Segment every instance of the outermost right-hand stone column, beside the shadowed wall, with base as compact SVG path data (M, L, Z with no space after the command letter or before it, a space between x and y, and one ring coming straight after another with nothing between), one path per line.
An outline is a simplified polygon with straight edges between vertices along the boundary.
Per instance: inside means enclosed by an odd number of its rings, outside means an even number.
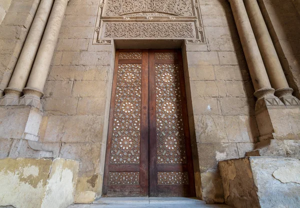
M258 44L264 66L269 77L271 86L275 89L275 96L287 104L287 100L297 98L291 93L293 89L288 86L283 73L279 58L277 56L272 39L264 22L257 0L244 0L244 5ZM296 102L295 102L296 103Z

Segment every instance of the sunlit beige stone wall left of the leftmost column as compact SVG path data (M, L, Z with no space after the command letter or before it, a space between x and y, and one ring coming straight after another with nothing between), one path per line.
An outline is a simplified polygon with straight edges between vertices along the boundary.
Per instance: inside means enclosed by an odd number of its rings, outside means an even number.
M11 4L1 0L0 6L2 3L8 10L0 23L0 96L8 85L39 0L12 0Z

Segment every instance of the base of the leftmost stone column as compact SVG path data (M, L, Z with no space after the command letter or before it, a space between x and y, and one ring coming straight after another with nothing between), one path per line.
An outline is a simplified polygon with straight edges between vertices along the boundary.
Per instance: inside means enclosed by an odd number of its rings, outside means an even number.
M5 95L0 98L0 106L15 106L18 105L18 99L22 94L22 90L7 87L4 89Z

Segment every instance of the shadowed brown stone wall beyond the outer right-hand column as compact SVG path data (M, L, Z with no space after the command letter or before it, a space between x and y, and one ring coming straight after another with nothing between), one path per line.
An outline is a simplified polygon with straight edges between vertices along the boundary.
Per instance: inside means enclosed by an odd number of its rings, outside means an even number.
M293 95L300 99L300 14L292 0L258 0Z

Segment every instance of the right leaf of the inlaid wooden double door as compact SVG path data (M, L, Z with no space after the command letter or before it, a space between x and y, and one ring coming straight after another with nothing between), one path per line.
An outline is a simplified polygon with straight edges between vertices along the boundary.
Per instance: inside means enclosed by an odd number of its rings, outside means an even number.
M180 50L149 51L149 196L194 197Z

